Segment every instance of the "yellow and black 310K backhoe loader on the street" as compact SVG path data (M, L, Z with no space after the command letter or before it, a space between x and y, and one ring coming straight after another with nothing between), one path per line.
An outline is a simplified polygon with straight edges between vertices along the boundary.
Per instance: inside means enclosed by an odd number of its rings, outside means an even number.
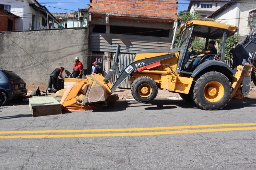
M225 41L237 32L237 27L210 21L189 21L180 28L180 32L178 48L139 51L133 63L122 72L118 68L120 45L117 45L117 57L107 76L87 75L85 82L77 85L80 90L76 89L73 94L76 100L73 101L87 110L97 104L107 104L109 96L127 77L132 82L132 96L141 103L149 103L156 97L158 89L166 89L179 93L184 100L194 102L201 109L219 110L231 99L243 99L249 93L250 83L244 84L243 80L251 80L253 65L250 61L253 58L249 57L254 57L255 50L249 55L245 44L250 43L254 34L248 35L240 46L233 49L232 68L224 63ZM191 46L195 37L205 40L205 50L209 40L222 39L222 48L221 54L204 55L191 70L193 57L197 55ZM113 73L117 80L112 85L109 78ZM79 91L81 94L77 95Z

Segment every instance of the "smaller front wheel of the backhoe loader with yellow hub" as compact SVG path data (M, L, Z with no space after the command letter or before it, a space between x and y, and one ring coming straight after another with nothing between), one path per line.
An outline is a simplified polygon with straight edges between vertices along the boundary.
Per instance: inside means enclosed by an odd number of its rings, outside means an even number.
M136 78L131 86L133 98L140 103L149 103L154 100L157 92L156 82L148 76Z

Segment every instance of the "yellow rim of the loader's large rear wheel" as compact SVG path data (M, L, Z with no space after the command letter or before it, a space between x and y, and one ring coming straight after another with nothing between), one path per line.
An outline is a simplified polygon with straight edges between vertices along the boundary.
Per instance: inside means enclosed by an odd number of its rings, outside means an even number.
M224 87L217 81L211 81L204 86L204 97L209 102L218 102L224 96Z

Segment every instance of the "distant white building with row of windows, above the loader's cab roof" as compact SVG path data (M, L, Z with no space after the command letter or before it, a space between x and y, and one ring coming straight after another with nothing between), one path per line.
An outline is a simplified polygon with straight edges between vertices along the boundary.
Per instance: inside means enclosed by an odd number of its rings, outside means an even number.
M201 14L202 17L207 17L225 5L228 1L229 0L191 0L188 5L188 11L190 14L196 11Z

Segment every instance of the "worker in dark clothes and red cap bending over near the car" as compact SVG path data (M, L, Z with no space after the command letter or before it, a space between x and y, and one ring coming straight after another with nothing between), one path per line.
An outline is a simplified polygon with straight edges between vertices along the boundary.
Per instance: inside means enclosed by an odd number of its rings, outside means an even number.
M53 86L53 92L54 93L57 92L58 76L60 76L60 78L64 79L62 77L63 70L65 70L64 67L55 68L55 70L53 70L53 72L50 74L49 84L48 84L48 93L52 92L52 86Z

